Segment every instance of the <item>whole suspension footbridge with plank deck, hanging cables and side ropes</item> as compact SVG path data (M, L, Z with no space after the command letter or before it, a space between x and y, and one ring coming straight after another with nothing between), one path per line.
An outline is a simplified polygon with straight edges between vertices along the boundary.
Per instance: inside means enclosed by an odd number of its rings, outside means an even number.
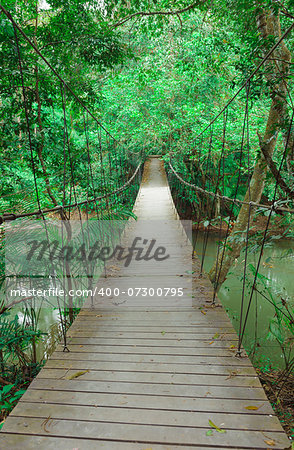
M91 101L80 98L40 51L37 39L29 37L2 5L0 9L8 30L7 54L12 58L7 70L14 74L12 85L9 78L6 88L16 99L15 104L4 105L11 114L10 122L16 125L11 132L13 143L5 141L3 146L8 146L7 153L10 148L17 149L28 183L23 191L13 192L12 188L6 199L8 206L0 215L1 233L12 229L11 223L21 229L26 220L32 223L35 218L35 226L44 228L48 242L50 227L54 234L60 223L65 224L64 243L72 237L74 220L83 238L94 222L125 221L116 257L105 264L94 293L86 296L75 320L72 296L58 303L63 340L5 419L0 447L289 449L290 441L242 342L257 293L270 304L272 315L281 318L278 325L284 320L288 327L286 344L293 329L290 302L284 294L274 298L264 288L260 268L272 217L292 218L294 213L293 161L289 160L294 148L294 114L284 105L285 120L280 123L277 118L281 102L286 99L287 103L291 95L281 61L271 63L294 24L279 36L220 113L205 122L198 134L191 131L193 137L185 150L179 151L176 140L171 145L173 129L168 132L169 137L161 142L161 159L148 156L150 152L144 149L124 146L127 138L115 138L97 119ZM249 120L250 105L256 101L254 79L261 71L266 77L271 64L274 96L263 137L256 137L255 122L251 126ZM47 95L49 84L54 86L51 96ZM233 105L236 99L238 111L244 109L240 117ZM47 124L46 117L52 124ZM202 118L196 119L193 127L202 123ZM4 122L1 125L6 126ZM236 148L231 148L231 134L240 136ZM272 192L263 201L268 174L273 178ZM202 225L205 228L201 261L189 239L189 224L178 215L177 207L183 201L197 224L196 234ZM133 204L132 218L127 221ZM264 216L263 227L252 243L253 219L258 214ZM203 268L208 236L215 225L219 243L211 284ZM105 225L98 225L97 233L101 233L100 226ZM110 225L109 229L111 241ZM21 250L23 241L16 242L21 242ZM149 247L146 250L141 244ZM258 249L254 266L248 260L250 246ZM130 260L120 257L126 248L132 250ZM236 333L217 291L242 252L240 328ZM60 278L68 281L65 285L72 287L66 258L59 261L57 270L52 261L47 269L48 279L55 279L59 270ZM82 269L91 278L88 262ZM34 300L18 298L5 304L1 299L1 315L14 311L16 305L33 310ZM1 331L6 329L5 320ZM26 324L21 333L27 339L25 351L33 353L37 366L40 334ZM1 373L6 377L6 367L16 368L11 350L16 347L9 340L3 342L1 355L6 359ZM19 342L24 356L25 344ZM285 363L288 370L293 368L290 351ZM31 369L29 363L25 369L28 367ZM24 373L23 382L28 379L31 381ZM11 378L3 380L4 385L11 383Z

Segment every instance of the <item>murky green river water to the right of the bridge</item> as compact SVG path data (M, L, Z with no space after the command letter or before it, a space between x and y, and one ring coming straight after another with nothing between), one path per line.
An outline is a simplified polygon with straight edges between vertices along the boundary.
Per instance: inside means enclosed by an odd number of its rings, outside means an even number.
M203 254L203 240L204 234L199 233L196 242L196 252L198 257L201 258ZM206 256L204 259L204 270L209 271L211 268L217 252L219 238L216 235L210 235L208 238ZM290 337L290 333L286 331L285 324L282 325L281 336L276 331L276 327L270 325L272 319L275 316L275 307L271 303L277 303L277 306L282 307L282 299L287 301L289 310L292 312L294 308L294 252L292 252L293 243L288 240L280 240L273 242L270 247L264 249L260 271L261 277L258 281L258 288L263 295L260 295L254 291L249 309L247 325L244 333L244 347L250 354L251 358L254 358L256 362L262 362L263 365L272 367L284 367L284 355L281 350L281 346L278 344L277 339L273 336L270 329L278 336L281 342L286 343L287 338ZM240 309L242 298L242 285L243 285L243 272L244 272L244 253L241 254L238 261L235 262L231 269L231 273L227 280L221 287L218 297L226 308L229 317L236 329L239 331L240 323ZM247 262L247 277L248 285L245 290L244 298L244 311L246 312L253 273L250 270L250 265L256 267L259 257L259 252L249 253ZM265 277L265 278L263 278ZM251 281L251 283L250 283ZM245 317L245 312L243 317ZM285 318L283 314L282 317ZM292 336L293 344L293 336ZM291 342L286 343L286 357L291 356ZM293 349L294 350L294 349ZM292 352L293 356L294 351Z

